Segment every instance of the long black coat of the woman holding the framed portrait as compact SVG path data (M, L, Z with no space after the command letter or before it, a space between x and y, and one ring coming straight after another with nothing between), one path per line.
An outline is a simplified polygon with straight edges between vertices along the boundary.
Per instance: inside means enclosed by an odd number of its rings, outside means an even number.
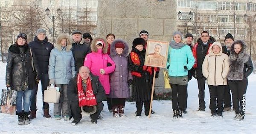
M133 46L131 52L135 52L138 54L140 58L140 65L133 64L130 53L128 56L128 68L129 70L138 72L142 75L142 77L137 77L133 75L134 83L132 84L132 99L134 101L148 101L151 99L154 74L150 75L147 71L143 71L143 65L145 61L145 49L139 51ZM154 72L153 67L152 72Z

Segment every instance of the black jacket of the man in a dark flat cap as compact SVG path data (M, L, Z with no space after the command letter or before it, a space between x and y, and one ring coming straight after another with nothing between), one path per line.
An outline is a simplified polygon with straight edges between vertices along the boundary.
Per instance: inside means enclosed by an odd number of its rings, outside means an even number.
M76 71L79 70L79 67L84 65L85 56L91 52L90 43L85 43L84 39L81 42L72 43L72 52L75 59Z

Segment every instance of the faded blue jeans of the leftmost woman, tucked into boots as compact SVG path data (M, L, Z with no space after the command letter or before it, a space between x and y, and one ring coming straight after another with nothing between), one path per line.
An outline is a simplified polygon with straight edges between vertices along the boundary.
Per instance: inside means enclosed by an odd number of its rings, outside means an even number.
M21 113L22 110L24 110L24 112L29 112L31 93L32 93L32 90L17 92L17 98L16 98L17 113ZM22 99L23 99L23 106L22 106Z

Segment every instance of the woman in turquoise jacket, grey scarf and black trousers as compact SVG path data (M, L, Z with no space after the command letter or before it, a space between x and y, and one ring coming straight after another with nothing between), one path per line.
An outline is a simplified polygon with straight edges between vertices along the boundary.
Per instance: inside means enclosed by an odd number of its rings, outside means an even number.
M182 41L179 31L173 33L170 42L167 70L169 83L172 87L172 109L174 118L182 118L182 111L186 109L186 95L188 88L188 70L194 65L195 59L191 49Z

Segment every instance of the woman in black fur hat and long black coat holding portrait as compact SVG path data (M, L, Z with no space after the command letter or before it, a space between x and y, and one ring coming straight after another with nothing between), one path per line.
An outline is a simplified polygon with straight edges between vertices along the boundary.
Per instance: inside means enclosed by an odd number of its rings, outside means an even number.
M144 66L145 62L145 40L136 38L132 42L131 53L128 56L128 68L133 76L132 99L136 101L136 116L140 117L144 103L145 115L149 115L151 90L153 84L154 70L157 67ZM154 93L155 95L155 93Z

